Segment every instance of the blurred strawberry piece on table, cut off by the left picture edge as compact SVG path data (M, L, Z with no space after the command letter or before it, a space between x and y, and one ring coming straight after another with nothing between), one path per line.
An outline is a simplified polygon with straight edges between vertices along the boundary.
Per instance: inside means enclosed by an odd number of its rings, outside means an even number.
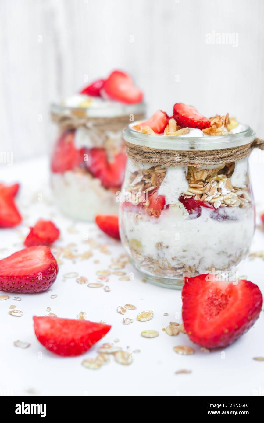
M0 228L13 228L22 221L14 200L18 190L19 184L0 183Z

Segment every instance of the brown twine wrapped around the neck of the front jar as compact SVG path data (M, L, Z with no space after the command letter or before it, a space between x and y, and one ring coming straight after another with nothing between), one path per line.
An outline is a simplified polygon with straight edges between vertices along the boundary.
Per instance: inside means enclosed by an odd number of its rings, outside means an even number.
M125 144L127 156L134 162L149 163L153 166L164 165L166 167L193 166L199 168L203 165L222 165L249 156L253 148L264 150L264 140L260 138L255 138L251 143L243 146L219 150L165 150L135 145L127 140Z

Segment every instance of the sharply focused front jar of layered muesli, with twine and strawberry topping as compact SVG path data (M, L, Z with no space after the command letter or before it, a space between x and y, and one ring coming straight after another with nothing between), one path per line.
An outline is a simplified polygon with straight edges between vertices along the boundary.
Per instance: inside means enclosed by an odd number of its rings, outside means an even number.
M120 236L134 266L161 286L234 272L254 229L248 155L260 140L235 118L176 103L124 131L128 162Z

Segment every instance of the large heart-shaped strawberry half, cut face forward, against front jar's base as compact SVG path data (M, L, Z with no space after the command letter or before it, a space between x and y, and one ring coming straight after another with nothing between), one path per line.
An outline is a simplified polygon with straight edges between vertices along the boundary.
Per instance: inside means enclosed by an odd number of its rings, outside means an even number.
M224 347L253 326L263 298L258 286L248 280L212 282L210 276L185 278L183 325L193 342L207 348Z

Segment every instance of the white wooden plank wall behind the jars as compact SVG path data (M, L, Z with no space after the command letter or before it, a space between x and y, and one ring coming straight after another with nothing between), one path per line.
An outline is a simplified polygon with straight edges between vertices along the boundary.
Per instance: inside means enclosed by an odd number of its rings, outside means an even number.
M263 0L1 0L0 151L48 151L50 101L114 68L144 88L149 113L228 111L263 137L263 22ZM206 44L213 31L238 46Z

